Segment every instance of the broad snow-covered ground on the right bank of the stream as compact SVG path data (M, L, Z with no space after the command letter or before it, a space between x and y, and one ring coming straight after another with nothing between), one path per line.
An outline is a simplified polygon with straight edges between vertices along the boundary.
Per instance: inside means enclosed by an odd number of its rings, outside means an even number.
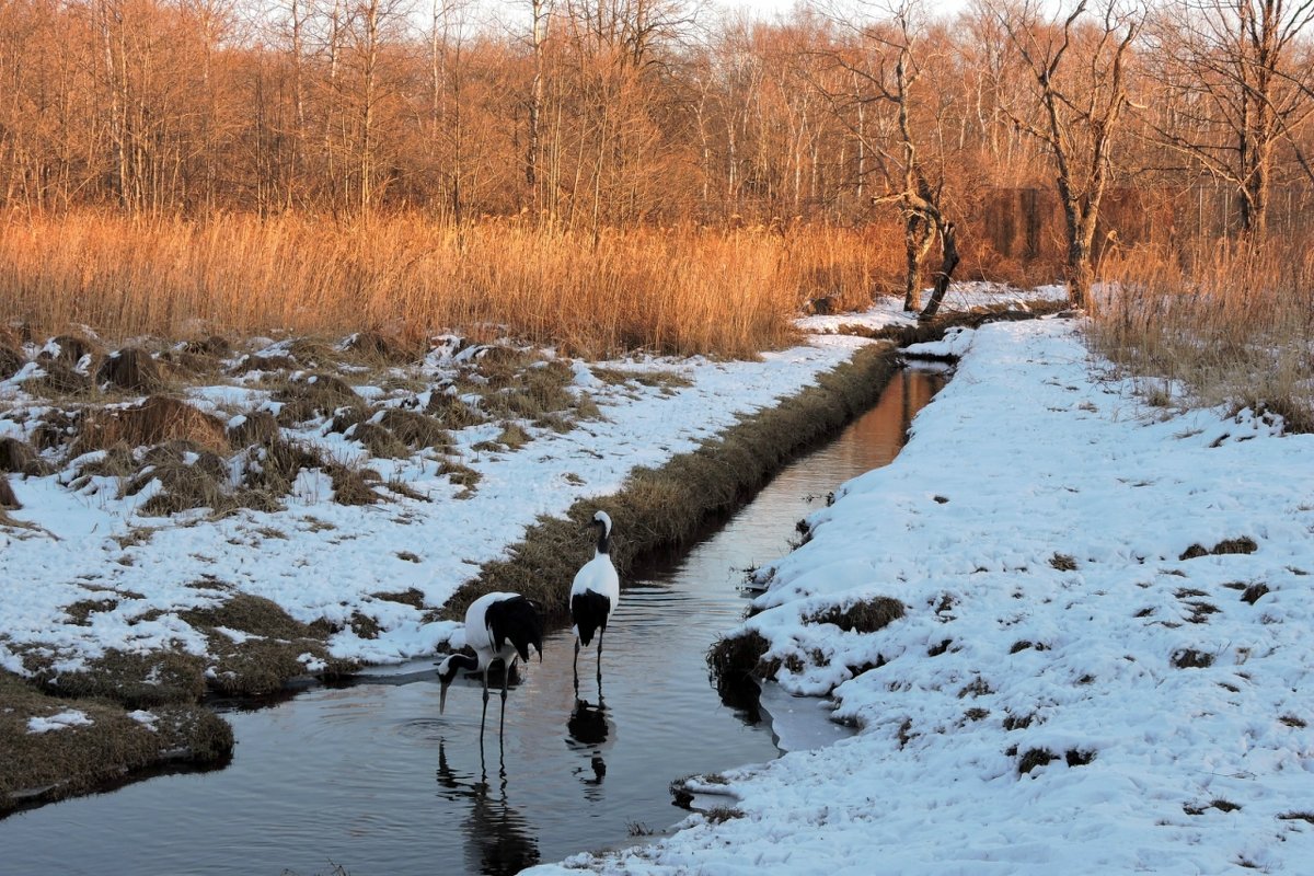
M530 872L1314 872L1314 436L1151 407L1080 331L963 332L899 458L761 570L745 626L855 735ZM905 616L800 620L875 596Z

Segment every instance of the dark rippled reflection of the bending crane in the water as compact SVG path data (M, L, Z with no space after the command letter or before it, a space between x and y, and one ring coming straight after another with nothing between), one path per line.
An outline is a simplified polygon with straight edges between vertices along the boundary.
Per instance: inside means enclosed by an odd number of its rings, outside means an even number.
M464 818L465 864L469 872L501 876L518 873L539 863L539 841L519 809L507 802L506 759L498 743L497 788L487 779L484 746L480 745L480 775L463 775L447 760L445 741L438 741L438 784L447 800L468 802Z

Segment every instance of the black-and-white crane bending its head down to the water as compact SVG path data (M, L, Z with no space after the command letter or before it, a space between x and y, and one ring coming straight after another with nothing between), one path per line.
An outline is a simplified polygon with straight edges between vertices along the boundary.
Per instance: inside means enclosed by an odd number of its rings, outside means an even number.
M438 712L447 707L447 688L461 670L484 672L484 714L480 718L480 737L489 713L489 668L502 662L502 720L506 720L506 686L516 658L530 662L530 646L543 662L543 617L528 599L519 594L487 594L480 596L465 611L465 644L474 649L469 654L449 654L438 665L438 680L443 690Z

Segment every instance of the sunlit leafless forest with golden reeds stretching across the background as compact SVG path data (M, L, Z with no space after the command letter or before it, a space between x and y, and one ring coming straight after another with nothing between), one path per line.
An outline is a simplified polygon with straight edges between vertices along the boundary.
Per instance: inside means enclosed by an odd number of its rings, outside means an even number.
M1314 3L933 7L0 0L5 315L332 330L552 288L514 328L744 352L816 298L920 309L949 250L1077 303L1305 282ZM761 313L695 339L698 297Z

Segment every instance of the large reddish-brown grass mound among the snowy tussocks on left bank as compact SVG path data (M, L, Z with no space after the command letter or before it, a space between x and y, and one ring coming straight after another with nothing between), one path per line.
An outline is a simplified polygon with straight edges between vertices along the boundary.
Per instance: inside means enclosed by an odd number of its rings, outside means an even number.
M167 395L151 395L133 407L84 414L74 449L85 453L114 444L142 447L179 440L215 453L230 450L222 420Z

